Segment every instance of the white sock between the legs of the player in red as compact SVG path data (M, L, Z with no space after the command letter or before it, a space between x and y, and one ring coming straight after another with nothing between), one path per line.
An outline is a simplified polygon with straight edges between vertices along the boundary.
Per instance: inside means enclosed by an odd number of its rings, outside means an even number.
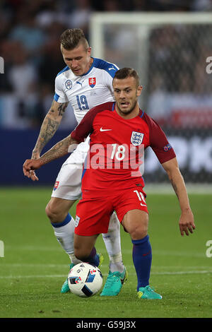
M119 220L116 213L112 213L107 234L102 234L105 247L110 258L110 271L123 272L124 264L122 262L121 239L119 232Z

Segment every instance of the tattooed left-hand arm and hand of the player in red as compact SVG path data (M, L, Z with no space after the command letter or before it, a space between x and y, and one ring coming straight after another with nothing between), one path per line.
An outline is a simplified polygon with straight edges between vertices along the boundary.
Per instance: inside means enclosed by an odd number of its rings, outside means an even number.
M23 173L26 177L31 177L30 172L32 170L37 170L42 165L51 162L57 158L63 157L69 152L69 146L76 146L78 141L71 138L71 135L64 138L62 141L59 141L55 146L48 150L42 157L38 159L27 159L23 164Z

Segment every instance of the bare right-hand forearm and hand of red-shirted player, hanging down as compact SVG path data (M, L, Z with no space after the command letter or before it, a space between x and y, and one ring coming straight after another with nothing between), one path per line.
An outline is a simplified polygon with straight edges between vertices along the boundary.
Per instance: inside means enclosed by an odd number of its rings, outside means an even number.
M184 184L184 179L179 171L177 159L173 158L162 164L164 170L170 179L175 194L177 195L179 206L181 209L181 216L179 218L179 230L182 236L184 232L186 235L193 233L195 229L194 216L189 205L189 198L187 195L187 189Z

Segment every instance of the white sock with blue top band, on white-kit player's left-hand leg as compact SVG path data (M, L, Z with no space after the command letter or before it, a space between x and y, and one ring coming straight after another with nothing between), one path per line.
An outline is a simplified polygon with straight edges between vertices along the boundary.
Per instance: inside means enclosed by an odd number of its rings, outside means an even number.
M74 265L81 263L79 259L74 256L73 249L73 236L74 236L74 219L70 214L67 215L66 219L61 223L52 223L52 227L54 229L54 235L57 238L61 247L66 251L71 259L71 263Z

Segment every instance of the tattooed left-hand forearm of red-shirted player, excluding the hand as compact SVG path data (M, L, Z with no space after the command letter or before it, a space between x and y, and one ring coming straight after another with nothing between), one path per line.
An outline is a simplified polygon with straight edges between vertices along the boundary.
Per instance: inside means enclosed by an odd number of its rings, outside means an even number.
M59 141L55 146L53 146L50 150L48 150L42 157L40 158L41 165L45 165L52 160L63 157L69 152L69 146L72 144L78 143L76 140L71 138L71 135L64 138L62 141Z

